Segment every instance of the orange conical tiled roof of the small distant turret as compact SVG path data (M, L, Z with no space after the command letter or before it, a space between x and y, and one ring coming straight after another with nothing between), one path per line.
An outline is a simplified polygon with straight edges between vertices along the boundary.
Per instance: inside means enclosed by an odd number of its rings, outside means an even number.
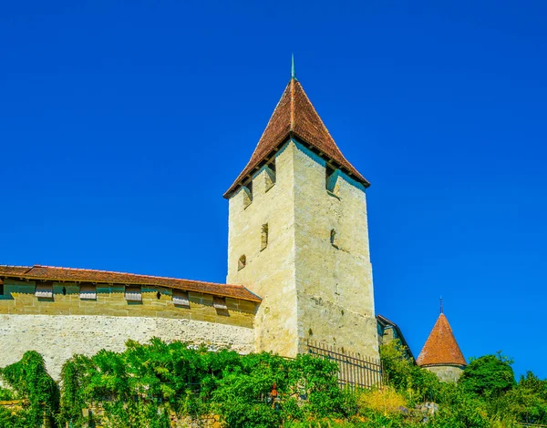
M463 354L459 350L458 342L452 333L449 321L444 313L439 315L428 340L419 353L416 363L420 366L431 364L458 364L466 365Z

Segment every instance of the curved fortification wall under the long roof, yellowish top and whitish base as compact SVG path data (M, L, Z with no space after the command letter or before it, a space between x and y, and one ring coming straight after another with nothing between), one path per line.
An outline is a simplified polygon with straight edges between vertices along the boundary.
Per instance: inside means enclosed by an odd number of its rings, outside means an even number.
M143 287L141 302L126 301L125 288L114 285L98 286L95 301L81 300L79 287L69 283L54 283L51 300L36 298L32 281L5 280L4 289L0 367L35 350L58 378L63 362L74 353L120 352L129 339L146 342L152 337L254 351L255 304L249 301L228 298L228 309L218 310L212 296L192 292L190 306L177 307L171 290L160 288Z

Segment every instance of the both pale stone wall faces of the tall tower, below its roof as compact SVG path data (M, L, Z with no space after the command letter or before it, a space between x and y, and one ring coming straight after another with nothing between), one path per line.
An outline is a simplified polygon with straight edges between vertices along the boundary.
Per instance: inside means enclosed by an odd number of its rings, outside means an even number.
M244 190L230 199L227 282L263 298L257 351L294 356L312 339L378 358L365 189L338 173L328 192L325 160L294 140L276 154L275 170L271 189L264 170L253 176L247 207ZM265 223L269 242L261 250Z

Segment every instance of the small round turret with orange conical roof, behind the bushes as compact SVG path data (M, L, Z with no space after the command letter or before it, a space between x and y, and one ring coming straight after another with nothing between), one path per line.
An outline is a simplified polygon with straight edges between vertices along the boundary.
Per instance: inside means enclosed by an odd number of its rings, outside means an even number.
M437 374L443 382L457 382L467 365L444 313L440 313L416 363Z

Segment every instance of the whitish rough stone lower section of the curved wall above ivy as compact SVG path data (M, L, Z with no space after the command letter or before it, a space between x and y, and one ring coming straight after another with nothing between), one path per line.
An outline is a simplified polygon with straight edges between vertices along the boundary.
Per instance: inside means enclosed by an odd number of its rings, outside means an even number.
M26 351L40 352L47 371L58 379L63 362L75 353L101 349L121 352L129 339L207 344L212 349L254 351L253 329L206 321L101 315L0 315L0 367L17 362Z

